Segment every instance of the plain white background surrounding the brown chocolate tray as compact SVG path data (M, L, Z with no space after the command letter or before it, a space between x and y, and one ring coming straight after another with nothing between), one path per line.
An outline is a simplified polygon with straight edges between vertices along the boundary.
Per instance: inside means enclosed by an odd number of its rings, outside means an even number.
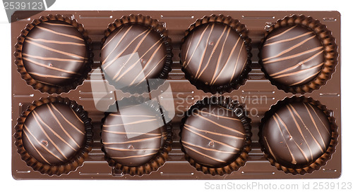
M49 10L232 10L232 11L340 11L342 15L341 68L342 68L342 176L340 179L296 180L233 180L234 184L259 181L261 184L299 184L303 182L353 181L352 155L352 4L345 1L69 1L56 0ZM349 9L350 7L350 9ZM211 191L205 189L206 181L16 181L11 176L11 25L8 24L4 6L0 6L0 187L6 191ZM228 181L211 181L227 184ZM221 191L221 190L218 190ZM239 191L232 189L228 191ZM241 190L248 191L248 190ZM256 190L249 190L256 191ZM281 191L281 190L277 190ZM300 190L295 190L300 191ZM311 190L312 191L312 190ZM320 190L325 191L325 190ZM330 190L332 191L332 190ZM337 190L333 190L337 191ZM341 190L340 190L341 191ZM349 191L349 190L342 190Z

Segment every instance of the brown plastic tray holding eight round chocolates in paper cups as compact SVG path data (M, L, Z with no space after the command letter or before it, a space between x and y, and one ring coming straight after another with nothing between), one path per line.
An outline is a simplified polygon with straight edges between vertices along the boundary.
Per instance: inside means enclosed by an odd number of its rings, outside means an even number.
M14 13L13 19L20 18L23 12ZM179 52L181 39L184 37L184 32L189 28L189 25L194 23L196 19L203 18L205 15L230 15L234 19L238 19L246 25L249 30L249 37L252 40L252 71L244 86L240 89L232 91L232 93L224 94L237 98L241 103L246 105L248 109L258 110L257 115L251 115L251 126L253 136L252 150L249 153L249 160L244 167L241 167L237 172L225 174L223 176L212 176L203 174L192 167L189 162L184 159L184 153L181 151L179 143L179 130L182 114L176 114L172 120L173 124L173 144L172 151L169 153L169 159L156 172L145 174L143 176L131 176L129 174L119 174L112 171L108 163L104 160L104 153L101 151L100 144L100 121L104 117L104 113L95 108L92 98L92 81L95 74L90 72L88 79L85 79L82 85L68 93L60 94L62 97L68 97L78 104L83 105L83 108L88 111L89 117L92 119L94 126L94 143L92 151L85 160L82 167L78 167L75 172L63 174L61 176L49 177L47 174L35 172L31 167L28 167L20 155L16 151L14 144L15 139L12 138L12 175L14 179L309 179L309 178L338 178L341 174L341 97L340 97L340 13L337 11L43 11L32 15L28 19L21 19L11 23L11 45L12 53L15 52L15 44L20 31L25 28L25 25L32 22L35 18L40 18L42 15L61 14L72 19L76 19L78 23L84 25L88 31L89 37L92 39L94 64L92 68L100 67L100 41L104 37L104 30L107 29L109 23L114 22L116 18L121 18L123 15L142 14L150 15L162 23L169 30L169 37L172 39L173 45L173 65L172 72L169 72L168 82L172 88L172 96L174 97L174 106L178 109L187 110L190 105L197 100L201 100L205 96L203 91L196 89L188 80L184 78L184 73L179 65ZM270 165L270 162L265 159L263 152L258 143L258 124L264 113L270 109L270 106L284 99L291 97L293 94L285 93L278 90L270 84L270 81L265 78L261 67L258 65L258 44L263 38L265 30L275 23L278 19L285 18L287 15L306 15L316 18L321 23L328 27L333 33L338 46L339 56L338 64L333 73L333 77L328 80L321 89L315 90L310 94L304 94L306 97L312 97L326 105L328 109L333 110L333 115L336 119L338 127L338 144L336 152L332 159L321 167L318 171L311 174L293 175L285 174L285 172L277 170ZM41 97L47 97L49 94L41 93L26 84L25 80L20 77L17 67L14 63L15 57L12 56L11 73L12 73L12 134L15 132L16 120L20 113L27 108L32 101L39 100ZM92 76L91 76L92 75ZM119 91L118 91L119 92ZM56 94L54 94L56 95ZM300 96L300 94L296 94ZM126 94L119 94L126 96ZM110 101L109 101L110 102ZM114 101L113 101L114 102ZM182 103L182 104L180 104Z

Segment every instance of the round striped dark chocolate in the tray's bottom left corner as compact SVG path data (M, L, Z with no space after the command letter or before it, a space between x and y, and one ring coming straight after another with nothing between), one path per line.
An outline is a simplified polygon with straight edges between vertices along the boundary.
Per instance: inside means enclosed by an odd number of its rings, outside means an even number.
M47 103L32 110L22 135L25 151L47 165L70 162L85 147L85 124L62 103Z

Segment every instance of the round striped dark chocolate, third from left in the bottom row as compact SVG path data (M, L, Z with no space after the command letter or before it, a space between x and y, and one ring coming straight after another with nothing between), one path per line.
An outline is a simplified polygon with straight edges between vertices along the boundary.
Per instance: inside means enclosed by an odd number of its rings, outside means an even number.
M186 118L181 132L184 152L201 165L222 167L235 160L246 141L244 124L232 110L205 105Z

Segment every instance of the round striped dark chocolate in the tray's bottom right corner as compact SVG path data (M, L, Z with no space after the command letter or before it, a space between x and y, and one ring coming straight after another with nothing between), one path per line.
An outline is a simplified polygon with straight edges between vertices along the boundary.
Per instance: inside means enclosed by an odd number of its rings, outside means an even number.
M310 103L282 105L261 123L260 139L265 153L285 167L306 167L320 158L330 145L328 117Z

